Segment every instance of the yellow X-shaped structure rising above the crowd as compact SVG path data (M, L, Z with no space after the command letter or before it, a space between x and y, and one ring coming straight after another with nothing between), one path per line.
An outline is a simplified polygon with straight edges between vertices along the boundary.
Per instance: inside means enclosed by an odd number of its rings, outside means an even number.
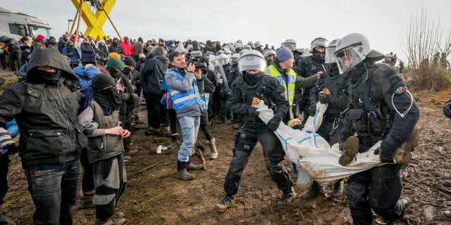
M71 0L75 8L80 6L80 0ZM92 13L91 8L89 8L86 1L83 1L82 4L82 18L87 25L87 29L85 31L85 36L90 36L92 39L98 41L99 39L103 39L106 35L102 30L106 20L108 19L106 14L111 12L114 4L116 4L116 0L101 0L101 4L104 6L104 11L98 10L95 14ZM74 22L75 23L75 22Z

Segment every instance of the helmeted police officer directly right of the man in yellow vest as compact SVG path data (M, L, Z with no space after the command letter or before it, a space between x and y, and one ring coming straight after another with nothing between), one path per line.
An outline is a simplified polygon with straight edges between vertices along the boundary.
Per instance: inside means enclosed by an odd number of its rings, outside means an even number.
M316 75L318 72L323 72L326 46L328 46L328 41L322 37L318 37L311 41L311 56L302 58L297 66L297 71L300 76L310 77ZM314 110L316 109L316 106L314 105L316 105L316 102L311 101L311 96L314 94L315 91L304 89L302 98L299 99L299 109L302 109L304 113L304 122L307 121L309 115L315 114Z

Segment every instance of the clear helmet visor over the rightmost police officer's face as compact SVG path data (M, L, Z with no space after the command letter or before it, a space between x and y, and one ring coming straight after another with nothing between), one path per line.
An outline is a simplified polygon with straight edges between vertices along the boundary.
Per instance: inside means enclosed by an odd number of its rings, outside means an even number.
M361 46L349 46L335 53L340 74L348 72L364 60L364 57L357 51L360 47Z

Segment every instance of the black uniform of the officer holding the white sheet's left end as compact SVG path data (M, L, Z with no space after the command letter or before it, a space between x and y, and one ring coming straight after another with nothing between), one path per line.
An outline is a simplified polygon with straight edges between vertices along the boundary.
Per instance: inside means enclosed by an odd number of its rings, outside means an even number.
M257 97L273 108L275 116L283 118L288 112L288 101L285 99L284 92L283 86L280 85L278 80L270 76L261 76L259 82L254 85L247 84L243 76L237 77L235 80L232 95L227 101L227 107L238 117L243 117L245 123L235 137L233 158L224 183L228 197L233 198L237 193L242 171L245 169L249 155L257 141L260 141L263 148L266 169L268 169L271 179L276 182L283 193L291 191L292 181L281 163L285 153L280 141L257 115L248 113L252 99Z

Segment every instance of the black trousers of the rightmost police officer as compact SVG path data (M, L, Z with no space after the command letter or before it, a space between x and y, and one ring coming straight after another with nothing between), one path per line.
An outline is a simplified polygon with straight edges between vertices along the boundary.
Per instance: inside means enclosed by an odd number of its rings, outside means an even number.
M371 210L383 219L402 219L397 201L402 191L401 165L383 165L350 176L347 200L355 225L373 224Z

